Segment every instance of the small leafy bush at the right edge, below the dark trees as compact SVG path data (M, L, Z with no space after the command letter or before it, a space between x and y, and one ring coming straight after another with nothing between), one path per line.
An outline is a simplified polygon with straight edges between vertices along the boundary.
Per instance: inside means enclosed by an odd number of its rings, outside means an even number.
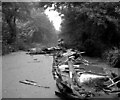
M103 59L111 66L120 68L120 49L114 48L104 52Z

